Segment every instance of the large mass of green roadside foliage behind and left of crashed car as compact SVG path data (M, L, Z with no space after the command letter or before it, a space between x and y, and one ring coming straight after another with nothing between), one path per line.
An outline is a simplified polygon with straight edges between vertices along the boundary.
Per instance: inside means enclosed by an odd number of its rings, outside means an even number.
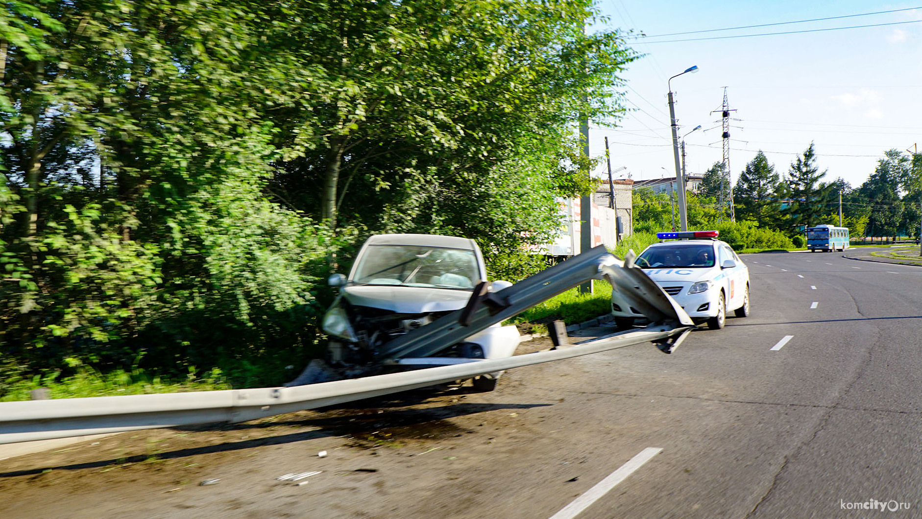
M0 376L309 353L369 232L559 225L575 114L634 59L591 2L34 0L0 7ZM588 95L586 95L588 94ZM5 371L6 370L6 371Z

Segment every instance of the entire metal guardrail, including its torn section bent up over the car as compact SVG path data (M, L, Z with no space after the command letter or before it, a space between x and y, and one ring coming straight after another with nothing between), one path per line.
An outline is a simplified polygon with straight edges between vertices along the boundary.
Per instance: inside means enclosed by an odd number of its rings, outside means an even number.
M467 308L391 341L383 357L393 360L409 355L431 355L554 294L597 277L607 278L613 289L621 292L624 299L644 313L652 324L572 348L337 382L0 403L0 443L261 419L644 342L654 342L657 348L669 353L694 327L676 301L641 269L633 266L633 254L628 254L621 262L604 247L597 247L499 292L479 287Z

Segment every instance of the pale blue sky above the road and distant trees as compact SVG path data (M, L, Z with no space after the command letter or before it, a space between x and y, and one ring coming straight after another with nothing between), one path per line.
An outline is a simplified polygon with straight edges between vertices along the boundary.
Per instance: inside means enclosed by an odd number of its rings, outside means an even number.
M919 2L922 5L922 2ZM654 35L845 17L916 7L913 4L839 2L678 2L599 0L606 26L648 37L632 48L646 55L623 74L625 106L632 109L608 130L590 131L590 154L603 155L609 137L616 178L675 175L669 130L667 80L691 65L699 71L672 79L680 136L686 137L687 172L702 174L722 159L720 114L724 87L731 121L733 182L759 149L775 171L815 144L826 180L843 178L857 187L874 171L885 150L922 148L922 8L854 18L829 19L701 34ZM918 20L918 23L915 21ZM892 24L864 29L691 40L764 32ZM610 124L610 123L609 123ZM598 123L591 124L597 128ZM665 171L662 169L665 168ZM604 161L597 175L605 170Z

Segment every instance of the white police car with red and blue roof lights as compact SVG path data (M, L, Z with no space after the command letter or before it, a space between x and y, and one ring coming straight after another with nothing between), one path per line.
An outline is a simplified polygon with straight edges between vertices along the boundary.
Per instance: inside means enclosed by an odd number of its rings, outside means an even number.
M749 267L716 230L658 232L663 242L650 245L634 259L634 265L656 281L685 309L695 323L719 330L727 323L727 311L737 317L750 313ZM644 315L612 293L611 312L619 329L630 328Z

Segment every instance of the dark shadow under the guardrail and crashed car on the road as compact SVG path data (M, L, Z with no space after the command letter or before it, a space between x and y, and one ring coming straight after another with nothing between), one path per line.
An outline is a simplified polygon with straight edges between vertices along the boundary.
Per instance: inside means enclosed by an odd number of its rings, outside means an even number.
M421 396L421 395L420 395ZM381 409L380 407L360 407L361 403L366 406L377 403L383 398L373 398L352 403L348 407L339 406L336 408L326 407L321 411L319 417L310 417L304 419L282 419L259 422L243 423L219 423L209 424L200 427L183 427L172 428L173 431L187 431L193 434L197 432L215 433L222 431L245 431L253 429L264 429L279 426L292 427L312 427L317 428L313 431L299 431L290 434L281 434L278 436L267 436L242 440L238 442L221 442L213 445L203 445L199 447L176 449L173 451L158 452L157 459L166 460L174 458L183 458L200 454L225 453L252 449L254 447L264 447L267 445L280 445L285 443L303 442L318 438L345 437L351 441L353 446L372 448L376 442L384 438L388 440L397 439L438 439L443 436L450 436L463 433L465 430L454 423L447 421L455 417L475 415L493 410L500 409L527 409L531 407L550 406L550 404L479 404L479 403L456 403L450 406L428 407L422 409ZM396 400L393 396L388 400ZM410 398L412 401L412 398ZM412 405L404 403L404 405ZM291 413L297 415L299 413ZM315 413L312 413L315 414ZM289 415L285 415L289 416ZM136 450L144 451L143 445L137 446ZM104 466L124 465L129 463L144 462L150 458L151 454L125 454L118 458L109 458L94 460L82 463L74 463L62 466L39 466L36 468L12 470L0 472L2 478L16 478L20 476L34 476L49 470L81 470L88 468L101 468Z

